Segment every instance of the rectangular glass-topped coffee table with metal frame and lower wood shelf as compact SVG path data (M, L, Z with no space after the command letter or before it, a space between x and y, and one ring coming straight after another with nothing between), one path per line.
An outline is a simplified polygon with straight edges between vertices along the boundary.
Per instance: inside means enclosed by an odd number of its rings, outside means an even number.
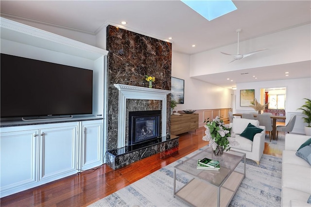
M197 169L198 159L203 158L219 160L220 170ZM236 168L242 159L244 159L244 170L238 172ZM245 163L245 153L230 150L224 152L221 157L216 157L212 147L209 147L174 166L173 196L192 206L228 206L245 177ZM176 191L176 170L193 177L178 191Z

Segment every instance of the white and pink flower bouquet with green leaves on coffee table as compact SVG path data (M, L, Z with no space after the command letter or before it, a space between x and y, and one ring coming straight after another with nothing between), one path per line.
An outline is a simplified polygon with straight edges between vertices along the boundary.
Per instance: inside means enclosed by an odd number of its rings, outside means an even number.
M209 118L208 118L209 119ZM229 124L224 124L224 121L216 116L213 121L207 119L207 124L204 126L206 128L205 136L202 138L204 141L209 141L209 144L213 147L215 151L218 146L223 146L225 151L230 150L229 145L237 145L235 141L235 134L231 133L231 128Z

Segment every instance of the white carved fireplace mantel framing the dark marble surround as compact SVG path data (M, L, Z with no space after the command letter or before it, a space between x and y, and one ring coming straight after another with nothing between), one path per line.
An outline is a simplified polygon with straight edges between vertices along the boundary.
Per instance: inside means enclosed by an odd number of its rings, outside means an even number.
M118 148L125 146L126 99L162 100L162 139L166 136L166 95L172 91L132 85L114 84L119 90ZM162 140L163 141L163 140Z

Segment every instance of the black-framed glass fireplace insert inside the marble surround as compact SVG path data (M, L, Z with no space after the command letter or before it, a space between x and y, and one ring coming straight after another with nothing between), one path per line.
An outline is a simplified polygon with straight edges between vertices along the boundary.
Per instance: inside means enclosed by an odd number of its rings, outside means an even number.
M157 139L161 111L129 112L129 145Z

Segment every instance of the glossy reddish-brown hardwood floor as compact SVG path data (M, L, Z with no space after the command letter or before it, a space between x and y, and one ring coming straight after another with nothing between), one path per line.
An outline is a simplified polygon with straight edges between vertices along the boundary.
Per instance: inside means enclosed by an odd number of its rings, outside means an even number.
M167 159L160 155L139 160L118 170L112 170L107 165L87 170L76 175L53 181L51 183L9 195L0 199L1 207L80 207L88 206L105 196L128 186L138 179L178 160L189 153L205 146L202 140L205 128L179 135L178 154ZM276 144L274 144L276 145ZM265 154L277 157L282 151L273 144L265 143Z

